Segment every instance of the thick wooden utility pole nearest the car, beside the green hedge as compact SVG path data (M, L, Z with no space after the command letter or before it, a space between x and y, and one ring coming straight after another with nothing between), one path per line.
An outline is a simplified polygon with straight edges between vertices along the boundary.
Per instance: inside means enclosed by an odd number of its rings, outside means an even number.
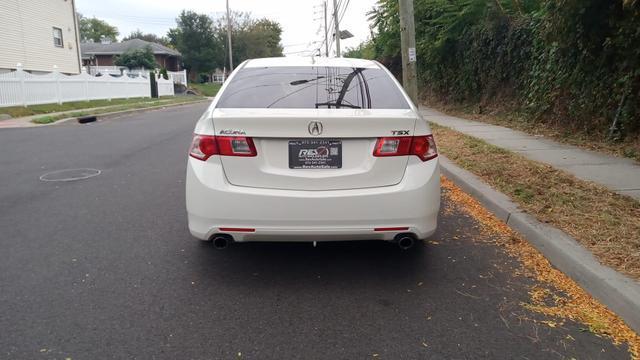
M414 25L413 0L398 0L398 4L400 5L402 86L413 103L417 105L418 74L416 64L416 29Z

